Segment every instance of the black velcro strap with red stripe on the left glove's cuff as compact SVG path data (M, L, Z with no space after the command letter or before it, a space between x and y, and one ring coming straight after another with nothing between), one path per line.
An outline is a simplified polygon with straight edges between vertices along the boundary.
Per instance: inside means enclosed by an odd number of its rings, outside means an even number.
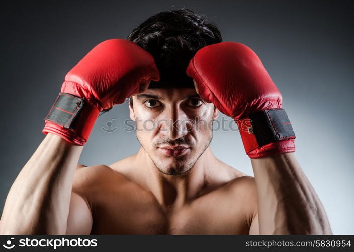
M64 128L73 129L75 119L80 114L84 103L85 101L82 98L67 93L59 93L45 119Z

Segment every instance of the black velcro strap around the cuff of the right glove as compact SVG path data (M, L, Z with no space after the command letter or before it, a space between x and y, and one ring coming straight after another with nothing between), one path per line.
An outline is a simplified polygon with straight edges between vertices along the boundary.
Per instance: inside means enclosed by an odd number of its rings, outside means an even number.
M284 109L270 109L249 115L252 130L259 146L295 138L295 133Z

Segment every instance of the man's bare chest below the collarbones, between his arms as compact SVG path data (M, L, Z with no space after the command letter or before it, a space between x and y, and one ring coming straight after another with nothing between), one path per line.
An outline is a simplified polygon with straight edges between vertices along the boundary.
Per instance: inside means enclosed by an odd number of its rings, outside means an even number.
M163 210L152 197L106 192L93 199L92 234L248 234L238 197L210 194L178 210Z

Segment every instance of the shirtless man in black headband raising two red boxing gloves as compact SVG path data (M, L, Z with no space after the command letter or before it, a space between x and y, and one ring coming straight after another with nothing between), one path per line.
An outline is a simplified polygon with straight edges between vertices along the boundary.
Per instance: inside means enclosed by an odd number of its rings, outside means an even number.
M78 164L99 113L128 97L140 150L109 166ZM222 42L191 10L158 13L65 76L0 233L331 234L281 108L250 48ZM219 110L238 123L254 177L213 155Z

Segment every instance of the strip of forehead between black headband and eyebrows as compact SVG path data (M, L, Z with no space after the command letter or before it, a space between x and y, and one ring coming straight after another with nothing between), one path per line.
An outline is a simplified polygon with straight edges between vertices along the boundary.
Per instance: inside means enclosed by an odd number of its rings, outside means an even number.
M199 97L195 88L152 88L147 89L144 94L136 95L136 98L140 99L148 96L161 100L182 100L191 96Z

